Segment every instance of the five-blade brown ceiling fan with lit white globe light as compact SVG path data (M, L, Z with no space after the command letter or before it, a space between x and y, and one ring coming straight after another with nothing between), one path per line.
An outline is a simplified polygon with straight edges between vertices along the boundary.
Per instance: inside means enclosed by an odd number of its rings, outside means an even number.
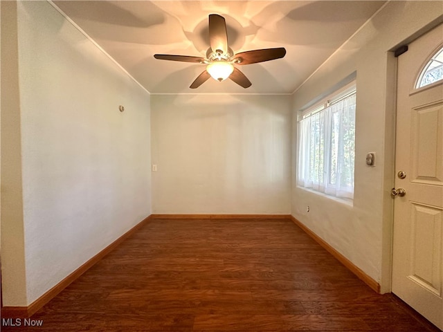
M260 50L248 50L237 54L233 53L233 50L228 46L226 21L224 17L217 14L209 15L209 42L210 48L206 51L206 57L168 54L155 54L154 57L161 60L206 64L206 70L192 82L190 85L191 89L198 88L206 82L209 77L213 77L219 82L229 77L230 80L233 80L239 84L239 86L246 89L251 86L252 83L234 64L256 64L257 62L280 59L286 54L284 47L263 48Z

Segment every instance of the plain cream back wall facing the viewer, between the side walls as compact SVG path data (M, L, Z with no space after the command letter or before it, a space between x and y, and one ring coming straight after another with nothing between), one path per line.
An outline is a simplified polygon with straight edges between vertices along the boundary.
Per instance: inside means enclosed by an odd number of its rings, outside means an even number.
M289 214L291 96L152 95L152 210Z

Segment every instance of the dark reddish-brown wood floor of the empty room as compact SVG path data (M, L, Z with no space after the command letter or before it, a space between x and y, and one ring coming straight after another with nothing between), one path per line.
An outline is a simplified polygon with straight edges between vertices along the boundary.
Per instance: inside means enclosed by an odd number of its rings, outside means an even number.
M2 331L439 331L289 220L152 220Z

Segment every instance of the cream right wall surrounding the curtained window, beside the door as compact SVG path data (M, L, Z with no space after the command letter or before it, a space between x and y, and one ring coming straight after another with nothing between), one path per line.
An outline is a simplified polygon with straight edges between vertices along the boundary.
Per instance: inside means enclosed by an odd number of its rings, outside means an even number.
M356 71L356 158L353 206L292 185L292 214L390 289L395 138L395 57L388 52L442 20L441 1L392 1L330 57L293 95L293 169L296 112ZM365 155L375 151L375 167ZM310 212L307 212L307 205Z

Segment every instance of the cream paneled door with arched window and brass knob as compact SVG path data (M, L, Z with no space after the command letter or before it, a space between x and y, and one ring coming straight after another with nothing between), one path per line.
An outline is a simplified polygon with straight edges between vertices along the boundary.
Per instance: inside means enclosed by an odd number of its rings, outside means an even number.
M443 330L442 47L440 25L398 57L392 293Z

